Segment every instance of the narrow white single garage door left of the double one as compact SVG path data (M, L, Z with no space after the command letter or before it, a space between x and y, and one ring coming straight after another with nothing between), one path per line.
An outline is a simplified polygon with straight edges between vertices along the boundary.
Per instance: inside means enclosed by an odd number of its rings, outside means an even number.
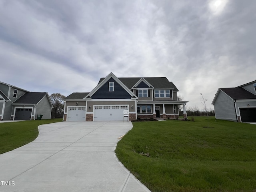
M84 107L68 107L67 121L85 121L85 106Z

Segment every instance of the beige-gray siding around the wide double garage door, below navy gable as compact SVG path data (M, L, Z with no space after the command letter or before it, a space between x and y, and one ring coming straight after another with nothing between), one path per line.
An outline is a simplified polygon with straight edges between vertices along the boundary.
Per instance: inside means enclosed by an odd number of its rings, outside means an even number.
M136 101L88 101L86 106L86 112L93 112L94 105L129 105L129 111L135 112L136 111L135 102ZM89 106L91 106L90 109L89 109Z

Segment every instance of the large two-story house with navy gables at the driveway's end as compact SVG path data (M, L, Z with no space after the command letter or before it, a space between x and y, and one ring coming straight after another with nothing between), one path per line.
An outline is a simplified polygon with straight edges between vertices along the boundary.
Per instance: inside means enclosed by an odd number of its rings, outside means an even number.
M91 92L64 98L64 121L122 121L138 118L178 118L178 89L166 77L117 78L112 72L101 78Z

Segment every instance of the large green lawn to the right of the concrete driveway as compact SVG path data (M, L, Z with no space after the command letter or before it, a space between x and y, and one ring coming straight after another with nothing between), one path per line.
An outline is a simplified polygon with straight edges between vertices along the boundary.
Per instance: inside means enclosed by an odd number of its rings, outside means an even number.
M116 155L152 192L256 192L256 125L194 117L133 126Z

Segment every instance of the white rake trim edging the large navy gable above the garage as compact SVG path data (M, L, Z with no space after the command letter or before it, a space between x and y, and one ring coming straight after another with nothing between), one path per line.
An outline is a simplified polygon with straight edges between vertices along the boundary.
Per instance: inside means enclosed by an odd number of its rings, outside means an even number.
M130 90L130 88L128 88L126 86L126 84L124 84L120 78L117 78L112 72L110 72L110 74L108 74L108 76L106 76L106 78L100 78L100 82L98 83L98 85L85 97L85 98L91 98L91 96L97 92L97 90L100 89L100 87L102 85L104 85L104 83L106 83L108 81L108 79L113 78L122 88L124 88L124 90L126 90L126 92L128 94L130 94L131 98L138 98L136 95L134 95L134 93ZM132 84L133 86L134 84Z

